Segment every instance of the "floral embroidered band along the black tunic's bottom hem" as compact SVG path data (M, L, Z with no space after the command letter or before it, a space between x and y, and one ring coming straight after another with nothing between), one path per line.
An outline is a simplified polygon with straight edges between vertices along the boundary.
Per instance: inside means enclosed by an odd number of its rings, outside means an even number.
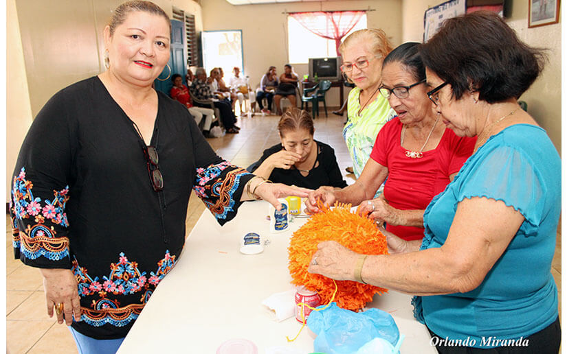
M71 270L78 281L79 296L98 294L98 299L92 300L90 308L81 306L81 320L94 327L106 324L123 327L140 315L159 281L175 266L175 255L170 255L169 250L166 250L165 257L157 262L157 270L150 272L149 276L146 272L140 272L138 264L129 261L124 252L120 253L118 263L111 263L109 276L102 276L102 279L98 276L91 278L87 269L79 266L77 259L72 264ZM120 307L119 300L108 297L137 292L141 293L140 303L124 307Z

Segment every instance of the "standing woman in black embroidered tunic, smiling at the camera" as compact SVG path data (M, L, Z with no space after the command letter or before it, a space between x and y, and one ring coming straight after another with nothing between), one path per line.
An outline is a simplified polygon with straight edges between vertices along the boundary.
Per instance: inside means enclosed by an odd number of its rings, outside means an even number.
M89 338L123 338L175 266L191 189L220 224L243 200L307 196L224 161L188 110L151 88L169 37L157 5L120 5L104 29L108 70L49 99L16 163L15 256L41 268L49 316L55 306Z

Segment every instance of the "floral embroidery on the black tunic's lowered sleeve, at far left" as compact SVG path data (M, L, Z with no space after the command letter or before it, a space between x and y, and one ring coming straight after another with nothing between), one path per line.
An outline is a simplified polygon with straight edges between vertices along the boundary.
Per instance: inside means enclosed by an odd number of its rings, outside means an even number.
M28 259L43 256L58 261L69 257L69 239L56 237L54 228L54 225L69 226L65 214L69 186L53 191L54 199L44 200L43 207L41 198L34 198L33 187L32 181L25 179L25 168L22 167L18 176L14 177L12 187L12 245ZM46 224L47 221L49 224ZM22 230L22 226L25 229Z

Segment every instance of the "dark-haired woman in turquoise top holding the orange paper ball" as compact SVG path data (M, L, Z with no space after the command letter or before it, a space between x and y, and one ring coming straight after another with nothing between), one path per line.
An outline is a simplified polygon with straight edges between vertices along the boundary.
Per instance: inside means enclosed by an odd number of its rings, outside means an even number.
M419 295L416 318L439 353L557 353L561 161L516 101L542 51L496 14L473 12L445 20L421 55L427 96L447 127L478 137L474 154L425 210L421 247L386 231L390 255L325 242L309 271Z

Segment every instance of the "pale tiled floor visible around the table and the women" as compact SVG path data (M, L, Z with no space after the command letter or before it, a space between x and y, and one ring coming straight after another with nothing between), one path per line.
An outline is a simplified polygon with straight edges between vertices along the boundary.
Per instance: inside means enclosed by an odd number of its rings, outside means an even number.
M329 113L331 109L329 109ZM241 117L240 134L208 139L217 154L235 165L247 167L262 155L263 150L278 143L276 129L279 117L256 115ZM315 139L328 143L335 149L337 161L346 182L354 182L353 175L344 169L351 165L351 158L342 139L344 118L322 115L315 119ZM205 209L203 203L192 195L187 211L187 233L189 233ZM45 313L42 279L38 270L24 266L12 255L10 220L6 218L6 334L7 351L19 353L77 353L74 340L65 325L58 325ZM559 314L561 313L561 226L557 232L557 248L551 270L559 288Z

